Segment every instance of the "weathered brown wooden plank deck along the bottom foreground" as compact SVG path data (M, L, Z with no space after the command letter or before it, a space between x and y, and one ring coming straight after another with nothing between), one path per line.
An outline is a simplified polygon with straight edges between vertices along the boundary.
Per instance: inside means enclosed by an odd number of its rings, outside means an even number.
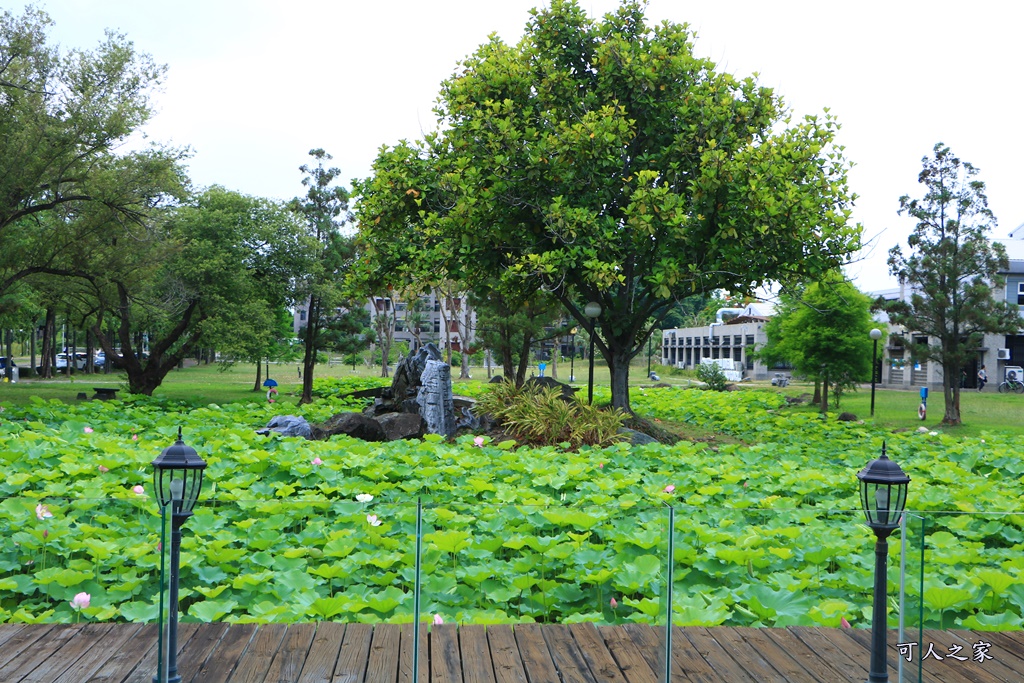
M648 626L436 626L423 629L420 683L658 683L664 631ZM182 624L178 673L186 683L411 683L411 625ZM673 683L863 683L870 632L862 629L675 628ZM1024 681L1024 632L926 632L944 658L930 683ZM2 683L152 683L156 627L0 625ZM975 645L990 659L974 660ZM896 681L896 634L890 634ZM947 656L967 657L962 661ZM905 680L916 680L914 676Z

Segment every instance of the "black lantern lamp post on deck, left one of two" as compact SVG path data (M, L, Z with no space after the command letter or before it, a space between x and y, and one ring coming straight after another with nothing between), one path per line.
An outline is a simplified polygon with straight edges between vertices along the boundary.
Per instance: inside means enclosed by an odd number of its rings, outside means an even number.
M180 683L178 675L178 570L181 562L181 524L191 516L203 487L206 461L181 440L167 446L153 461L153 487L161 509L171 508L171 577L167 621L167 683ZM160 674L154 677L158 682Z

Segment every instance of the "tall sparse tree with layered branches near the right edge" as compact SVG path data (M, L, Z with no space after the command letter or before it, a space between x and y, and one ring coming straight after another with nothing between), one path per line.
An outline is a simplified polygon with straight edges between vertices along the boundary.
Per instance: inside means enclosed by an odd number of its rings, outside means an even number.
M1013 334L1021 319L1016 306L994 294L1010 263L1002 245L988 239L995 216L978 170L941 142L922 165L918 181L925 196L899 200L899 213L918 221L907 241L910 253L899 245L889 251L890 272L910 297L880 304L894 324L928 335L928 343L911 345L911 352L942 366L942 422L958 425L962 369L977 356L986 333Z

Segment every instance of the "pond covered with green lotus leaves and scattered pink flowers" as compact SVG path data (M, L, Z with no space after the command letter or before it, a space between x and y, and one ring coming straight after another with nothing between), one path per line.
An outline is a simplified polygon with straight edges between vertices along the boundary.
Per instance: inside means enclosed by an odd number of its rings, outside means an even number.
M873 537L855 474L885 439L912 478L906 613L1021 628L1024 464L1012 437L822 421L770 391L646 389L633 404L738 442L307 442L257 435L267 404L8 405L0 622L156 618L150 463L180 425L208 463L184 527L183 621L412 620L420 499L424 611L446 621L664 621L671 547L677 624L864 626ZM321 421L343 409L324 398L301 410ZM76 611L83 592L89 606Z

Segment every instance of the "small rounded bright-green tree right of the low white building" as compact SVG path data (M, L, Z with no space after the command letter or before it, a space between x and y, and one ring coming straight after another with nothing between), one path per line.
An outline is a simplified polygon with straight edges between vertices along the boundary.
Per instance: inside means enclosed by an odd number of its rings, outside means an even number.
M821 412L828 410L828 391L836 408L844 392L870 377L870 299L834 272L783 297L765 326L768 344L758 356L768 362L790 362L798 373L821 387Z

